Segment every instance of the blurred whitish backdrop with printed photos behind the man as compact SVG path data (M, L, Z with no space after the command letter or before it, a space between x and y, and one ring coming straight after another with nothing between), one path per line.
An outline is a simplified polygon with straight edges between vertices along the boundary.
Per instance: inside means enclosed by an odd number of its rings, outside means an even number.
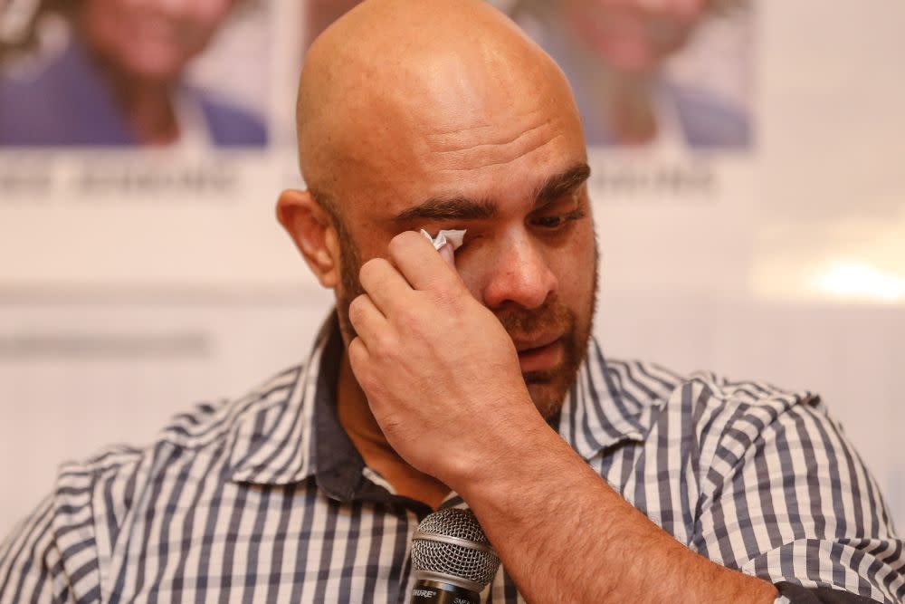
M819 392L901 527L905 4L492 3L575 92L610 356ZM0 0L0 534L63 459L307 349L330 292L273 205L355 5Z

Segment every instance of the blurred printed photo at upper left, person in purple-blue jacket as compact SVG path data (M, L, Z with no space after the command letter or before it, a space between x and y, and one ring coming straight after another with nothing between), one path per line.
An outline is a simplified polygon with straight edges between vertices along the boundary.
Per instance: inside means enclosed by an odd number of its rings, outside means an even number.
M264 0L36 0L0 13L0 151L262 148Z

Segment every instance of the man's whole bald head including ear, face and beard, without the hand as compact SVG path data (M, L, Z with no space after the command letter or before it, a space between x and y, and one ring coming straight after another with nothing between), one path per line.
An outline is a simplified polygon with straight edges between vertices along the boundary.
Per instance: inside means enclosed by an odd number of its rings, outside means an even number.
M309 188L278 216L336 293L346 344L367 260L404 231L466 229L455 266L473 297L513 341L561 335L556 367L524 374L554 412L596 283L585 140L556 63L481 0L366 0L311 46L298 113Z

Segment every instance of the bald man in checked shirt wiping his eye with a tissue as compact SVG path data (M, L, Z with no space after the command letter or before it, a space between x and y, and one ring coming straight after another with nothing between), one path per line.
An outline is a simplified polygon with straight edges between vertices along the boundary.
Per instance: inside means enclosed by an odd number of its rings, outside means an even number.
M314 43L308 189L337 294L310 359L62 468L0 601L405 601L467 504L494 602L896 601L902 542L814 397L605 362L586 153L555 63L478 0L373 0ZM467 228L437 254L414 228Z

